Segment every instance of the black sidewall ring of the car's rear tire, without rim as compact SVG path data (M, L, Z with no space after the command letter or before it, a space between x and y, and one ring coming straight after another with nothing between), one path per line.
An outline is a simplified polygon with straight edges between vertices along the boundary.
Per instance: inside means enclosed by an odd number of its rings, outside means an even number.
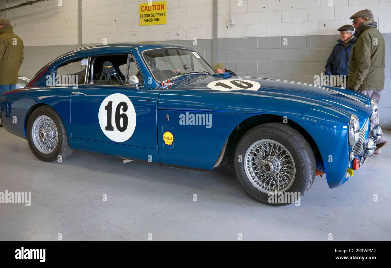
M48 116L51 120L53 120L57 128L57 134L58 134L57 145L54 151L51 152L50 154L44 154L40 152L38 148L36 148L32 138L32 127L34 121L39 116L42 115ZM29 120L27 121L26 134L27 134L27 141L29 143L30 150L41 161L53 162L56 161L58 159L58 156L60 155L61 147L63 144L63 130L61 129L61 123L59 120L60 120L59 117L55 114L55 111L52 108L48 106L42 106L34 110L30 115Z

